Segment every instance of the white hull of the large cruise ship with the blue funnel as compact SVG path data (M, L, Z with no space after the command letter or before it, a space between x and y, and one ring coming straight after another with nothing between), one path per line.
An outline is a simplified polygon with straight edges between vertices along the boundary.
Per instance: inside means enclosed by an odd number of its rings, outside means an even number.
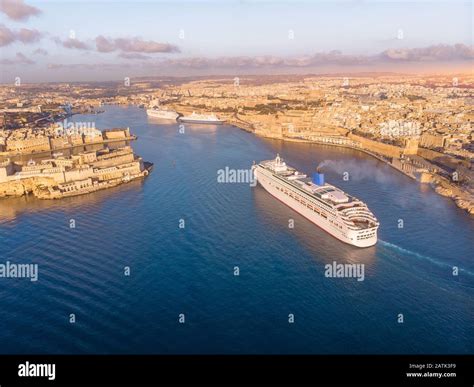
M254 176L257 179L257 182L267 192L340 241L356 247L370 247L377 243L376 227L357 231L341 230L340 228L331 224L329 219L323 218L322 216L316 214L313 210L310 210L305 205L301 204L299 201L285 195L281 190L278 190L276 187L279 185L279 183L271 177L271 172L266 171L259 166L255 166ZM370 235L370 237L366 237L366 235Z

